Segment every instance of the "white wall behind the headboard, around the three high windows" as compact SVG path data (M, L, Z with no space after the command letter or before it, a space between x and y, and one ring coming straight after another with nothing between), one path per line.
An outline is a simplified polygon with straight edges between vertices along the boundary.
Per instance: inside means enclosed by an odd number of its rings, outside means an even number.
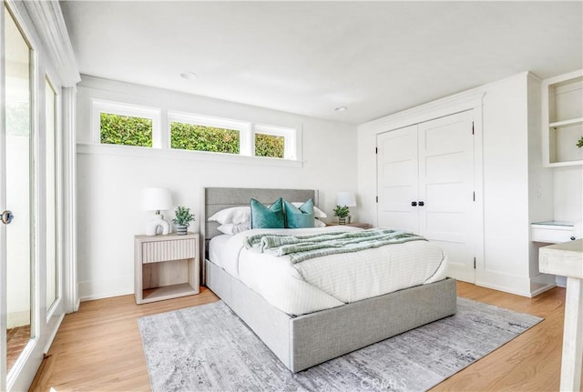
M155 106L275 126L302 127L302 166L265 161L209 161L188 152L136 153L132 147L88 146L91 98ZM338 191L356 190L356 127L139 85L84 76L77 92L78 281L82 299L133 293L133 236L152 214L140 209L147 186L168 187L175 205L189 206L199 231L202 188L245 186L313 188L332 219ZM358 211L354 211L356 216ZM173 217L173 212L165 213Z

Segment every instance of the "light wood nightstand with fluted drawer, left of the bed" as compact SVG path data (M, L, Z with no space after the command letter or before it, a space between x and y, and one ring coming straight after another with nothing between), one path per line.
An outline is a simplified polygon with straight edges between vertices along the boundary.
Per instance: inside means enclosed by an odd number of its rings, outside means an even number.
M199 294L199 235L135 236L137 304Z

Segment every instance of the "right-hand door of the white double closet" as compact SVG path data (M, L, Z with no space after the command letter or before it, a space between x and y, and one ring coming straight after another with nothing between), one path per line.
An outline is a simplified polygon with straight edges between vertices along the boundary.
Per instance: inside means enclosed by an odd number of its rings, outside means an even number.
M472 110L419 124L418 210L419 232L445 250L448 275L474 283L472 129Z

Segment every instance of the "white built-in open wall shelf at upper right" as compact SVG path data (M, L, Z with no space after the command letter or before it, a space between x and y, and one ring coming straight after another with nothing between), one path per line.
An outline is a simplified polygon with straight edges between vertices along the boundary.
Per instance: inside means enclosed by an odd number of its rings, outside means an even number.
M559 75L542 85L545 166L583 165L583 70Z

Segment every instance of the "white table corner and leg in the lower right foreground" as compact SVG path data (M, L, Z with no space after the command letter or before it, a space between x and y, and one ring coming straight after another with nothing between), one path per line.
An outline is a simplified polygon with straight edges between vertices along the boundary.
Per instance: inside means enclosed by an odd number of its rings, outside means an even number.
M567 276L561 391L579 391L583 365L583 239L539 249L540 272Z

